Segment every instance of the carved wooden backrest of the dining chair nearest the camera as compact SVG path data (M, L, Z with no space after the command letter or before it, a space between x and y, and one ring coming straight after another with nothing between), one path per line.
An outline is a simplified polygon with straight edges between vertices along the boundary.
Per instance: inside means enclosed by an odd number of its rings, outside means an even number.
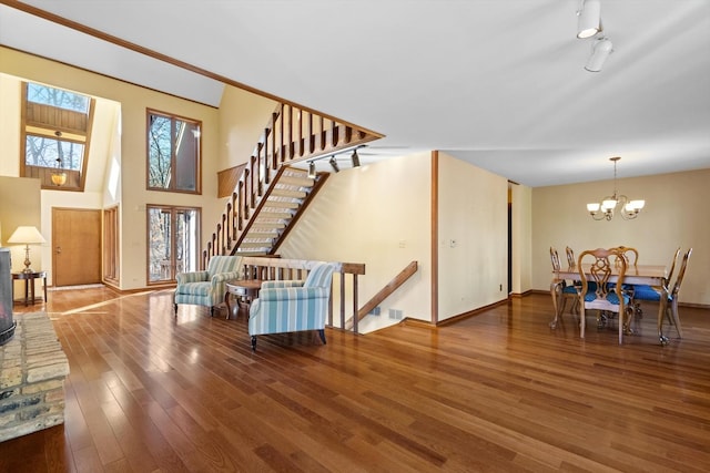
M582 264L585 259L590 260L590 277L587 278L587 274ZM613 264L611 263L613 260ZM619 299L621 300L621 286L623 285L623 276L627 269L627 259L623 257L623 254L619 250L619 248L597 248L597 249L587 249L579 255L579 259L577 261L577 268L579 270L579 280L581 280L581 290L582 295L588 294L589 281L596 282L595 294L597 299L606 299L609 294L609 282L610 278L615 273L617 274L617 281L611 287L612 291L617 294Z

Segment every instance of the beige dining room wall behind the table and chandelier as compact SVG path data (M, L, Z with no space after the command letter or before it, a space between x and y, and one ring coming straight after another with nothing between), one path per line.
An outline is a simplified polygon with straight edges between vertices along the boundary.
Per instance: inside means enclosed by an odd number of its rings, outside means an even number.
M549 247L632 246L639 263L669 265L678 246L693 247L680 301L710 305L710 169L618 179L619 193L646 199L635 220L595 222L586 204L611 194L612 181L532 189L532 286L549 289Z

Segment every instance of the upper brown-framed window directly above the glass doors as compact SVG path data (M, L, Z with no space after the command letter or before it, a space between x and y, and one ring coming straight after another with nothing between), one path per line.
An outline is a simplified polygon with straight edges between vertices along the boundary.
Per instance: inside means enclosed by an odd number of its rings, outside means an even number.
M201 193L201 122L148 111L148 188Z

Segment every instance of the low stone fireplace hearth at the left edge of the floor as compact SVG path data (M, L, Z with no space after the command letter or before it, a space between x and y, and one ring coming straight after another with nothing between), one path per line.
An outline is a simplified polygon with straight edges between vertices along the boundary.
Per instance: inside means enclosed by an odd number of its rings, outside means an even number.
M69 360L45 312L16 313L0 346L0 442L64 422Z

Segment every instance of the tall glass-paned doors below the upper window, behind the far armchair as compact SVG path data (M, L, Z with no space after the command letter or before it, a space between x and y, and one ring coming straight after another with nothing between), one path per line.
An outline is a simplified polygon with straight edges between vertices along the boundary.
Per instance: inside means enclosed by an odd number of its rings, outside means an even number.
M174 281L178 273L196 271L200 209L148 205L148 282Z

